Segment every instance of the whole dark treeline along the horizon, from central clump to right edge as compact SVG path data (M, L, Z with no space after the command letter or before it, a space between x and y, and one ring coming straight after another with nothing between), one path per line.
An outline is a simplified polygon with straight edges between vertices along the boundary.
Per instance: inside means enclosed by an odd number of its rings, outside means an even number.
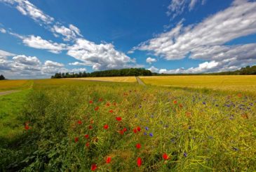
M242 75L242 74L256 74L256 65L242 67L240 70L228 72L215 72L207 74L159 74L152 73L150 70L144 68L130 68L122 70L103 70L91 73L56 73L51 78L79 78L79 77L128 77L128 76L177 76L177 75ZM4 76L3 76L4 77Z

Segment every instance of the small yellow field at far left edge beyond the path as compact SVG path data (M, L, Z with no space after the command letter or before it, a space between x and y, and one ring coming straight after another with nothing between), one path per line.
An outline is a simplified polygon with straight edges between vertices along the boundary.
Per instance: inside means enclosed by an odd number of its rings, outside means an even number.
M32 80L3 80L0 81L0 91L21 90L32 86Z

